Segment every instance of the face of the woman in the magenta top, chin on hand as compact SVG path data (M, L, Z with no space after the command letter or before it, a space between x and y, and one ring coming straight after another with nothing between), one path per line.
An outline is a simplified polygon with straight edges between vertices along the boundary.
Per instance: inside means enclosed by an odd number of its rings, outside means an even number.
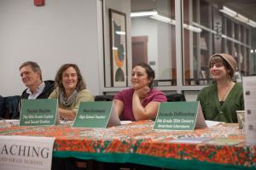
M136 66L131 71L131 84L137 90L149 85L148 74L142 66Z

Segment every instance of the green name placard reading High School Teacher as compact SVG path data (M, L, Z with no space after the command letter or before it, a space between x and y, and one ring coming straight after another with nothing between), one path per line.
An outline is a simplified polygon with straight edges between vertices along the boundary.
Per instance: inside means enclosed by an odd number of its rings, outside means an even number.
M120 120L112 102L81 102L73 127L106 128L119 124Z

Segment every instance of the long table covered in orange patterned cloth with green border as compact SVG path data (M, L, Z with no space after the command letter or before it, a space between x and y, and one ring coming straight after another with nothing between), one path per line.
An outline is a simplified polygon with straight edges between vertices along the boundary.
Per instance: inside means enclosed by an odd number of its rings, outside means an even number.
M55 137L54 157L137 163L172 169L256 169L256 145L247 146L236 123L193 132L152 130L153 121L118 127L4 127L0 135ZM199 144L173 143L183 137L209 137Z

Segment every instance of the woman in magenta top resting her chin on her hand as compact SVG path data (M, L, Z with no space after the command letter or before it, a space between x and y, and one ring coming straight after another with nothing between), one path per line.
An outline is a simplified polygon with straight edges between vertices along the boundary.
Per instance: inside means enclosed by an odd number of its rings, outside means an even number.
M160 102L167 99L165 94L152 88L153 81L154 70L149 65L141 63L132 69L132 88L119 92L113 100L121 120L155 119Z

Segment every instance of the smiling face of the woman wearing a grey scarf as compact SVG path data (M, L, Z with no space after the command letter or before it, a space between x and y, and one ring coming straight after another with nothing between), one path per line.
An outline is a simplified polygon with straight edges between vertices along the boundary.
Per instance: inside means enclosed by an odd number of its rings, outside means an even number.
M77 88L78 75L77 71L72 66L63 71L61 79L65 91L73 91Z

